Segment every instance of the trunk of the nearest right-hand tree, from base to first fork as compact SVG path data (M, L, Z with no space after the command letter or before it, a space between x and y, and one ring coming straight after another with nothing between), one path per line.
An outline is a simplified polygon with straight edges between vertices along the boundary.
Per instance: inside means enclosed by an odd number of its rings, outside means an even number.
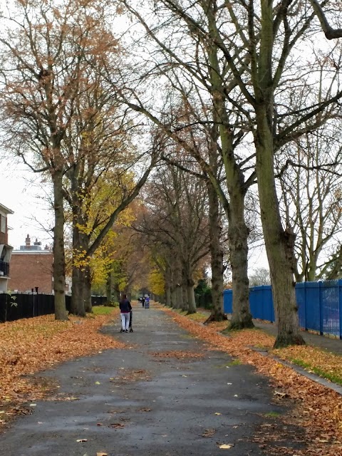
M274 312L278 326L275 348L304 344L294 289L294 234L281 225L274 180L274 144L269 112L257 112L257 180L261 223L271 272Z

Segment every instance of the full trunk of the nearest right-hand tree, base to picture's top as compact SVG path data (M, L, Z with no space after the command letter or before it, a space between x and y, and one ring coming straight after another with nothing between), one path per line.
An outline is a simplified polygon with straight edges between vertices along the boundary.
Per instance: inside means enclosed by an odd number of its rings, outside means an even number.
M273 5L261 1L261 32L257 71L252 73L255 93L257 129L254 143L257 151L257 181L261 224L269 260L274 313L278 335L274 347L304 343L294 291L294 234L281 224L279 201L274 177L274 48Z

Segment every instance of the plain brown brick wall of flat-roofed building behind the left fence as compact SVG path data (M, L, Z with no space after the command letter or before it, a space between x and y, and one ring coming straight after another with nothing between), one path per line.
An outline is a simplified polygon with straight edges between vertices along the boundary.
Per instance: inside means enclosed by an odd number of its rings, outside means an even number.
M8 288L31 291L38 286L38 293L52 293L52 264L52 252L12 252Z

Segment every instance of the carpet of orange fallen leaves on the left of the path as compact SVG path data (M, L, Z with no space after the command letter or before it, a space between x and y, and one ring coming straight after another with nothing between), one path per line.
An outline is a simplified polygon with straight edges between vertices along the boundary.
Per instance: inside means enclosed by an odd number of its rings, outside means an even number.
M0 325L0 425L25 410L21 403L43 398L51 388L48 380L30 378L33 373L78 356L107 348L127 348L98 332L103 324L117 317L71 317L56 321L53 315L23 318Z

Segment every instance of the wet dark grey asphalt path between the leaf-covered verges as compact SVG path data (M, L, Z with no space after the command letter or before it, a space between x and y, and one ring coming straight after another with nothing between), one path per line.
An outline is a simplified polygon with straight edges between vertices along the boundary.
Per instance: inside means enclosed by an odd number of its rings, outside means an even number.
M39 373L60 387L0 435L0 455L259 456L270 435L275 445L301 445L303 431L281 424L289 409L274 403L269 379L208 350L163 311L133 311L134 333L119 333L118 321L103 329L128 349ZM160 354L170 351L203 357Z

